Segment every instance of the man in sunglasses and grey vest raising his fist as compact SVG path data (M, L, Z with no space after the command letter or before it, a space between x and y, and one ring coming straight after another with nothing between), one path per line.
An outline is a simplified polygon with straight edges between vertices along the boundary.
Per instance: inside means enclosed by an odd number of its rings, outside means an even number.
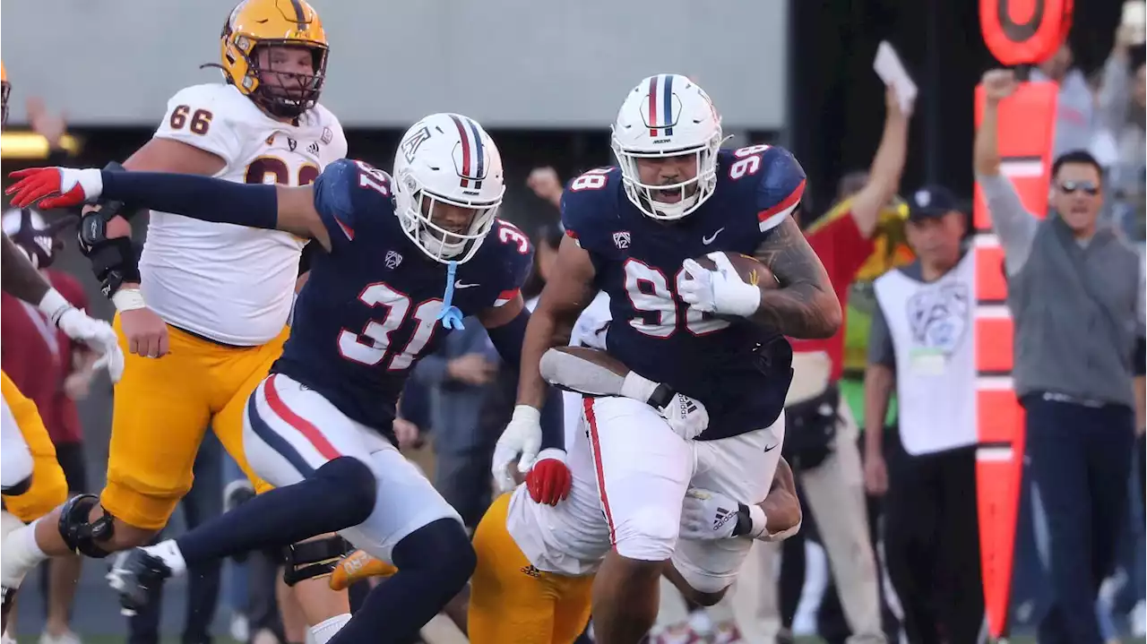
M1021 203L997 140L999 104L1016 85L1009 70L984 74L974 157L1004 249L1012 375L1027 411L1032 496L1050 535L1040 559L1052 602L1038 638L1099 644L1094 602L1124 527L1137 402L1145 424L1147 264L1100 221L1103 178L1086 151L1053 163L1046 218Z

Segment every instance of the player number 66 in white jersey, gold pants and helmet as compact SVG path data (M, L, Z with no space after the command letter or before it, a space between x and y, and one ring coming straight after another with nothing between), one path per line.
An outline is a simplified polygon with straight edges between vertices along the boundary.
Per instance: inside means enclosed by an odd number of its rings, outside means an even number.
M327 36L305 0L243 0L227 17L220 47L226 84L178 92L154 138L124 162L127 170L303 186L346 155L338 119L318 103ZM18 587L47 557L106 557L149 543L190 488L209 424L251 476L243 409L287 339L305 241L153 212L140 253L128 236L128 209L102 206L85 215L80 241L116 305L127 354L116 386L108 484L99 497L77 496L36 524L34 539L31 529L8 534L0 542L0 589ZM270 487L251 478L257 490ZM333 561L343 549L341 539L320 539L292 549L302 559L294 563ZM314 629L321 644L349 610L345 596L320 581L296 590L321 594L302 594L309 623L333 620L331 628Z

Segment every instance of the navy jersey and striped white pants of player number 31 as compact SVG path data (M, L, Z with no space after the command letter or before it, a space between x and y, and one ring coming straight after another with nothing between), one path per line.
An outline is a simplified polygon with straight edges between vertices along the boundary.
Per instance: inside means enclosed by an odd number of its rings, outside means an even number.
M248 403L248 457L275 486L342 456L365 462L379 481L375 510L341 534L390 561L392 548L419 527L461 523L393 447L391 427L411 370L451 332L438 320L447 267L407 238L390 176L366 164L328 166L314 184L314 206L331 250L313 258L282 358ZM494 221L474 257L458 265L453 306L471 316L515 301L532 259L525 235Z

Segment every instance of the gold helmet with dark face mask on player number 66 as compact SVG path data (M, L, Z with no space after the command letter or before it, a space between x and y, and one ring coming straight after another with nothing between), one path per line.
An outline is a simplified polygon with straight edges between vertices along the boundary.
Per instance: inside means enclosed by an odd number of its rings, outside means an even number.
M259 69L262 46L305 47L311 50L311 74ZM327 32L319 14L305 0L242 0L227 18L220 36L223 73L240 92L267 113L295 118L314 107L327 72ZM265 83L274 72L279 86ZM283 87L294 79L298 87Z

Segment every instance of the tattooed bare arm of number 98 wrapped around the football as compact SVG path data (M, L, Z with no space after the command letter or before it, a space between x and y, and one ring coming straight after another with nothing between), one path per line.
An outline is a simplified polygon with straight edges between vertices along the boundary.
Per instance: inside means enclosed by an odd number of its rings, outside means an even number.
M755 253L780 288L762 282L760 306L749 319L791 338L829 338L844 317L828 273L796 220L786 217Z

